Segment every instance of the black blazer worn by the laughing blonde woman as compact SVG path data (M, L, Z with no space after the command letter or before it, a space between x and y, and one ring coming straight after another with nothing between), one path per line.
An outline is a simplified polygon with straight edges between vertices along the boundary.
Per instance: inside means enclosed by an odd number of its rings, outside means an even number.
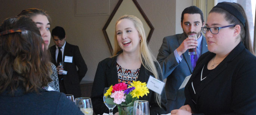
M115 85L118 83L117 79L117 56L113 58L106 58L99 62L98 68L96 71L96 75L94 78L93 86L92 86L92 105L93 105L93 112L95 114L100 114L102 115L104 112L108 113L109 110L107 106L103 103L103 93L104 93L104 88L110 87L111 85ZM158 64L157 64L158 65ZM156 66L159 74L159 80L163 81L162 75L161 75L161 69L159 66ZM153 74L146 70L143 65L141 65L141 69L139 71L139 76L137 81L141 82L148 82L149 75ZM148 96L144 95L142 98L140 97L139 100L146 100L149 102L149 105L151 106L150 109L150 115L161 115L165 114L166 112L166 104L167 104L167 99L166 99L166 94L165 91L163 90L161 94L161 107L160 108L157 105L157 102L155 101L155 92L151 91L149 89L149 94ZM118 112L117 106L113 109L113 113Z

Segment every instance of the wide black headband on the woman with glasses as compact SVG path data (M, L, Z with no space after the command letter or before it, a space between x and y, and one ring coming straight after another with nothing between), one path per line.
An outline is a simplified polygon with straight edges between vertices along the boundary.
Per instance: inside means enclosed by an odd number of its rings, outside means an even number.
M224 9L226 11L228 11L229 13L231 13L233 16L235 16L245 27L245 19L243 17L243 15L241 14L241 12L239 12L234 6L227 4L227 3L218 3L215 7ZM215 8L213 7L213 8Z

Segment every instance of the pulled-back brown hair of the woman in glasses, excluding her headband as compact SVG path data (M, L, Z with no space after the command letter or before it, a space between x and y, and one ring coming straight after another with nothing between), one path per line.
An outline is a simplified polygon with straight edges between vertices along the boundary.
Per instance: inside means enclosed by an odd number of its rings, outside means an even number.
M225 20L228 21L229 24L238 24L238 25L240 25L240 27L241 27L240 40L243 42L246 49L248 49L253 55L255 55L255 53L253 51L253 48L252 48L252 44L251 44L248 20L247 20L246 13L244 12L243 7L238 3L230 3L230 2L222 2L222 3L230 4L233 7L235 7L235 9L237 9L243 15L244 19L246 20L245 26L243 26L243 23L241 23L240 20L238 20L234 15L232 15L228 11L226 11L224 9L221 9L219 7L214 7L209 12L209 14L213 13L213 12L220 13L220 14L225 14ZM232 27L230 27L230 28L232 28Z

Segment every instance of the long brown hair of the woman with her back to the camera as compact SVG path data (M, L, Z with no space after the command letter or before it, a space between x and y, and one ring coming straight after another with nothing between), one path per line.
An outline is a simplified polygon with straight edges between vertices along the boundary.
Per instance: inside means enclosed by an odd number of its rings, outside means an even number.
M28 17L5 19L0 26L0 93L38 91L50 79L50 63L36 24Z

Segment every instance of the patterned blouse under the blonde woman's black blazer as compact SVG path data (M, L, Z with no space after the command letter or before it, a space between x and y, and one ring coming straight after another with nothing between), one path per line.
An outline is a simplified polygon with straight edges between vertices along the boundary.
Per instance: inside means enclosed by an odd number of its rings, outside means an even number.
M130 86L133 81L137 81L140 69L124 69L117 63L118 83L123 82Z

